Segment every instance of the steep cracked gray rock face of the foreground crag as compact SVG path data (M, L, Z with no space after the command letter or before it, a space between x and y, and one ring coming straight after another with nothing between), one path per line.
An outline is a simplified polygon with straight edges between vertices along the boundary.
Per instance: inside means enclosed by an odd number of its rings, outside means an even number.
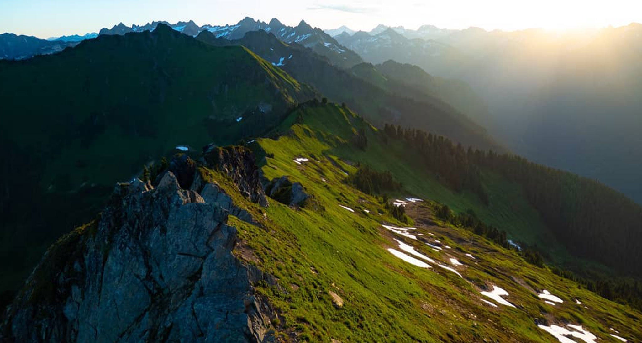
M49 249L0 341L271 341L270 306L252 283L273 277L232 254L232 206L214 185L181 189L169 171L156 188L119 184L100 221Z

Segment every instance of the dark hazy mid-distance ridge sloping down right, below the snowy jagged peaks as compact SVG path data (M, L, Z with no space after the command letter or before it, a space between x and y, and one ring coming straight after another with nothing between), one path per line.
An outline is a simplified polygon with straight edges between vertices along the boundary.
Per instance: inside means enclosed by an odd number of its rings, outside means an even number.
M198 39L215 46L245 46L266 60L277 61L286 56L288 58L281 66L284 71L299 82L315 87L328 100L346 103L374 125L395 123L419 127L467 145L496 150L501 148L487 136L483 127L446 103L435 92L424 92L387 78L370 64L340 69L311 49L299 44L284 44L265 31L250 32L241 39L231 41L216 39L211 33L204 32L198 35ZM367 72L361 73L361 70Z

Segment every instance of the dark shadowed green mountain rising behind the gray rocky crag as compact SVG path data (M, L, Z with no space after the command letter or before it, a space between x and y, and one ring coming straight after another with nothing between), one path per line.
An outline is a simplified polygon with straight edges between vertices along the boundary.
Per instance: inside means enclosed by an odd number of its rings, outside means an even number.
M144 163L256 136L315 95L246 48L164 25L0 61L0 80L0 293Z

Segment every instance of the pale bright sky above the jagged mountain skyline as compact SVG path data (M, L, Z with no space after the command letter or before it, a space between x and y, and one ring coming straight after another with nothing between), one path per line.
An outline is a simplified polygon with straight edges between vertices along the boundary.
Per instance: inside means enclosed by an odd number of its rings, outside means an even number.
M227 24L277 17L295 25L370 30L377 24L487 30L623 26L642 22L640 0L0 0L0 33L37 37L98 32L123 22L193 19Z

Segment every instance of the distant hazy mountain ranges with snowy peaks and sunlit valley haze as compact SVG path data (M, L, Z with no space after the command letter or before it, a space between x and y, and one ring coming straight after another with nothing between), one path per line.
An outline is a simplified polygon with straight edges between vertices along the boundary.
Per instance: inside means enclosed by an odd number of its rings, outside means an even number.
M100 34L153 30L158 23L118 24ZM642 144L636 134L638 80L642 79L639 24L582 33L449 30L431 25L417 30L379 25L369 32L342 26L324 32L305 22L289 27L277 19L251 18L233 25L198 26L189 21L171 27L194 37L209 31L231 40L241 39L248 31L265 30L287 44L312 48L344 69L363 60L372 64L394 60L419 66L432 76L462 80L485 105L474 101L474 106L457 109L489 129L507 148L602 180L642 201L642 186L636 182L642 153L632 148ZM17 38L4 35L0 55L11 59L55 53L92 37L89 33L51 41L29 38L30 44L23 37L21 46ZM447 100L453 104L452 98Z

